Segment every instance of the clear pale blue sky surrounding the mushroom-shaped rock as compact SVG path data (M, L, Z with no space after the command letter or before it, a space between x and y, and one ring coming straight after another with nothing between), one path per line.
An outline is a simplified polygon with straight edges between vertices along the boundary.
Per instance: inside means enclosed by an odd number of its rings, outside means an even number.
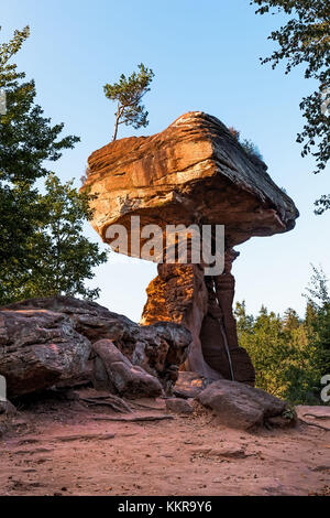
M189 110L204 110L241 130L260 148L274 181L285 187L300 211L296 229L253 238L239 247L234 266L237 299L248 310L261 304L304 313L301 292L309 263L330 274L330 212L312 214L312 203L329 190L329 171L315 176L314 161L300 158L295 142L302 126L299 100L314 88L301 69L284 75L258 57L272 52L266 37L284 18L258 17L249 0L10 0L1 2L2 31L31 25L31 37L18 58L28 78L35 78L37 100L54 122L80 136L55 172L63 179L84 173L88 155L106 144L113 127L113 106L105 83L131 73L143 62L155 72L145 98L150 126L140 134L166 128ZM121 136L139 134L121 128ZM86 229L98 240L92 229ZM97 270L92 285L99 302L139 320L145 288L155 266L111 255Z

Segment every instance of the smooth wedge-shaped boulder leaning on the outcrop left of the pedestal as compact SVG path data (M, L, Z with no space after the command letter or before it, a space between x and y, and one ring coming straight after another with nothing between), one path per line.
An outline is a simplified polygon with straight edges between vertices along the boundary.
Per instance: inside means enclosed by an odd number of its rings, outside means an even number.
M139 365L131 361L111 339L100 339L92 345L95 353L94 385L127 398L156 398L163 393L161 382Z

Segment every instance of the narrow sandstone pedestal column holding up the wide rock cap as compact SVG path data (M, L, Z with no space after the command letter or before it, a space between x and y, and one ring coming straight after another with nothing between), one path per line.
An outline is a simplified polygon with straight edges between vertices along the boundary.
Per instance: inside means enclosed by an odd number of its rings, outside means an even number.
M254 384L254 368L245 349L239 347L232 312L234 277L232 262L238 252L226 252L221 276L205 277L198 265L158 265L158 277L148 285L141 324L174 321L193 334L183 370L209 379L234 379Z

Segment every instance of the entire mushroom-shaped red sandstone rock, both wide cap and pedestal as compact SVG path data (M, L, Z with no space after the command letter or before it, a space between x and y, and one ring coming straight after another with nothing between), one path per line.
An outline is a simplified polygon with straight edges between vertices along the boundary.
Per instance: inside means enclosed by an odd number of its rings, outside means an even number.
M140 217L141 227L158 225L164 241L167 225L224 225L222 274L205 277L201 265L160 263L141 322L177 322L190 330L187 370L252 385L254 369L239 347L232 314L231 268L238 256L233 247L252 236L288 231L298 217L267 166L248 154L220 120L201 111L179 117L152 137L105 145L90 155L88 164L82 188L96 195L92 226L111 245L109 228L123 225L128 255L136 256L130 239L136 238L132 216ZM140 245L144 242L140 239Z

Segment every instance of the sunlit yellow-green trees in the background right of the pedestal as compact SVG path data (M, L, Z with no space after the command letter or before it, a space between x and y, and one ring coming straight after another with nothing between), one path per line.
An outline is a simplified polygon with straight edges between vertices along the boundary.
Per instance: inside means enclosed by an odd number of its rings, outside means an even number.
M293 309L282 316L262 307L254 317L245 303L235 316L240 345L251 356L256 386L292 403L320 404L320 380L330 374L330 304L327 279L314 268L306 315Z

